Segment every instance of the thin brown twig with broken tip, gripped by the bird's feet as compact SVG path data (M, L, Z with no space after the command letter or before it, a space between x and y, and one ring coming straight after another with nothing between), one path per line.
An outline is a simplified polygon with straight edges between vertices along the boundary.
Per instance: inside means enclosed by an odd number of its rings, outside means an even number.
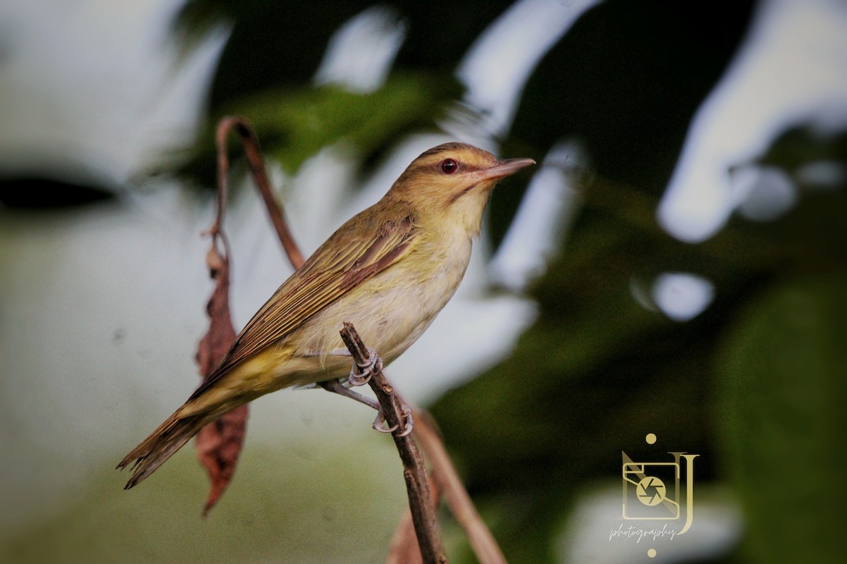
M368 353L368 348L365 347L352 323L345 321L344 329L340 333L344 344L350 349L350 353L357 364L365 364L370 353ZM385 424L389 427L396 426L396 431L391 436L394 437L394 443L403 464L403 478L406 480L409 510L412 512L412 523L418 537L421 559L424 564L446 563L447 557L441 545L438 520L435 518L435 507L430 497L429 479L424 466L424 458L421 457L418 445L412 435L403 435L407 424L406 417L403 414L403 405L394 391L394 386L389 384L382 370L379 369L379 364L381 363L378 363L374 368L368 384L374 391L374 395L382 408Z

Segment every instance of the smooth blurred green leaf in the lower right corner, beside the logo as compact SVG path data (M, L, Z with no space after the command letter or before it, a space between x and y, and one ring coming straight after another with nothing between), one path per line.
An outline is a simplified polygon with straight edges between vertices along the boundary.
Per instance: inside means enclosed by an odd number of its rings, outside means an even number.
M745 507L749 561L843 552L845 283L844 271L816 269L764 288L739 308L715 357L714 420Z

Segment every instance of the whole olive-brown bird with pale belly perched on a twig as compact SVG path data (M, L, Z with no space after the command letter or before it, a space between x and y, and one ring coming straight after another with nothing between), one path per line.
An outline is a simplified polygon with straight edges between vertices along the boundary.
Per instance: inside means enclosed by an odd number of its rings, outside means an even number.
M491 189L534 164L446 143L418 156L385 196L333 233L253 315L197 391L119 463L147 478L206 424L268 392L343 378L352 321L390 363L462 281Z

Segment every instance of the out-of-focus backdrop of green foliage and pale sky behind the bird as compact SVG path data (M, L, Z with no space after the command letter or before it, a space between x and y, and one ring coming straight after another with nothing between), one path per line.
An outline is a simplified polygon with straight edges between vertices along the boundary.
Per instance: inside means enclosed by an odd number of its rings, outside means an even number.
M388 370L510 562L842 551L843 2L0 0L0 560L385 560L401 466L331 394L254 402L205 519L191 449L129 492L113 470L199 382L233 113L306 253L440 142L539 162ZM236 328L291 273L244 171ZM623 519L623 453L671 452L692 503Z

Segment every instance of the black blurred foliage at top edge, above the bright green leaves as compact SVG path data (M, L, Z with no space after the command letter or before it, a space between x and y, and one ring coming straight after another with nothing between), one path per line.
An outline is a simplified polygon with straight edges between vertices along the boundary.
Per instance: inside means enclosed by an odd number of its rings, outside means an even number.
M232 34L221 55L210 92L211 113L241 96L311 81L327 41L340 25L368 8L396 14L407 27L394 69L429 71L453 80L459 57L509 0L471 2L379 2L319 0L302 4L274 0L188 0L175 22L191 41L213 25Z

